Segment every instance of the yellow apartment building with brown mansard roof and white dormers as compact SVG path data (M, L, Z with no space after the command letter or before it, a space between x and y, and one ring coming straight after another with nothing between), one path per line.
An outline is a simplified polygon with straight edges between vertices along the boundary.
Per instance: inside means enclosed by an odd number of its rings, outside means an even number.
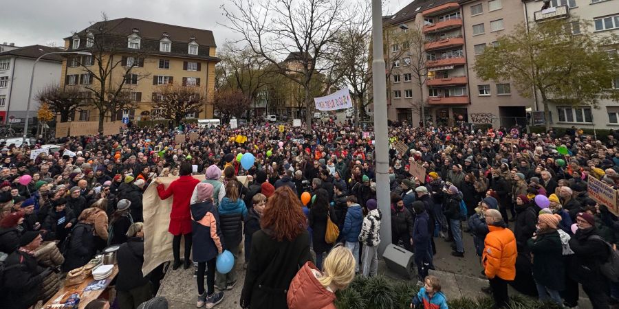
M116 119L161 119L161 108L153 101L161 95L167 84L197 87L206 95L206 102L199 113L187 111L186 118L212 118L215 93L215 38L210 30L202 30L153 21L122 18L95 23L65 38L67 51L93 51L100 45L113 50L111 63L119 64L111 71L111 87L129 89L137 108L118 111ZM136 56L138 55L138 56ZM98 71L92 56L72 56L63 61L61 82L67 86L85 87L94 82L84 67ZM131 74L124 76L127 67ZM85 97L91 93L83 90ZM89 95L90 94L90 95ZM111 115L106 115L111 118ZM86 108L74 116L78 121L95 121L98 111Z

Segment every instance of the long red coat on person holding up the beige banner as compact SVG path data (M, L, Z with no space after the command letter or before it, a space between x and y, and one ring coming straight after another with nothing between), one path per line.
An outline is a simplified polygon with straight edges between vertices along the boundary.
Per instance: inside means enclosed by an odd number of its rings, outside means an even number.
M170 226L168 231L175 236L191 233L191 211L189 203L195 186L200 181L191 175L180 176L172 181L166 189L165 185L157 186L157 193L162 200L173 196L172 211L170 213Z

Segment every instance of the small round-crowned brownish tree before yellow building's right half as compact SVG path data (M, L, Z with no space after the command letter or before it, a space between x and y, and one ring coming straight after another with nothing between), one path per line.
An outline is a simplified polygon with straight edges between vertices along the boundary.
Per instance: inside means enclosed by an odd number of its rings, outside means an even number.
M199 87L177 83L160 86L159 92L153 95L154 107L162 110L158 116L173 119L177 126L187 113L201 112L204 99Z

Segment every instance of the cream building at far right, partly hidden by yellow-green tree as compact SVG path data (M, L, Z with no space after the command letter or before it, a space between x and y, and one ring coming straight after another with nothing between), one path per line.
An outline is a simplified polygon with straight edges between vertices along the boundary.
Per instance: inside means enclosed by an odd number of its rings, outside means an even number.
M564 19L571 23L576 19L591 21L589 32L598 36L619 35L619 0L550 0L550 8L542 10L543 1L526 0L521 4L527 24L543 23L550 19ZM572 23L572 32L582 30ZM619 56L616 46L608 52ZM619 78L609 88L619 89ZM598 108L591 106L565 106L550 104L552 126L579 128L619 128L619 102L600 100ZM541 102L539 110L543 111Z

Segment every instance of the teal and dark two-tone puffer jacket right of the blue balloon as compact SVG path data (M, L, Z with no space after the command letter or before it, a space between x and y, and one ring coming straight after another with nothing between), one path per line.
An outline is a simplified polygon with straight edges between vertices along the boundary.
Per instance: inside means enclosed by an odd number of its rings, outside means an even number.
M243 238L243 219L247 217L247 207L240 198L236 202L224 197L217 207L219 221L221 222L221 233L224 235L226 248L238 246Z

